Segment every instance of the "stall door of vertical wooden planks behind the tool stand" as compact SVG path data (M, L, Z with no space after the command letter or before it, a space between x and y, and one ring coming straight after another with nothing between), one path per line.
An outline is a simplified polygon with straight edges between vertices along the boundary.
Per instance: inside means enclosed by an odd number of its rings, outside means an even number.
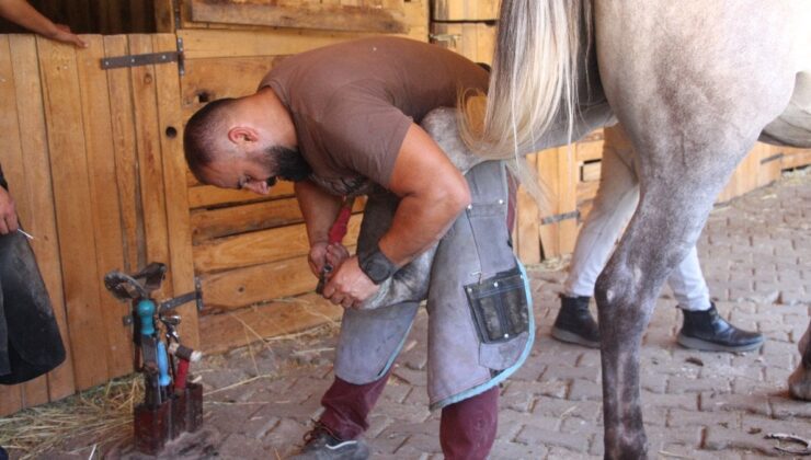
M84 38L89 48L77 50L0 35L0 164L35 235L68 350L47 376L0 387L0 415L133 371L128 306L104 288L108 271L164 262L159 299L194 287L185 166L171 135L182 127L176 65L100 66L105 56L174 49L174 35ZM184 341L196 344L196 310L181 314Z

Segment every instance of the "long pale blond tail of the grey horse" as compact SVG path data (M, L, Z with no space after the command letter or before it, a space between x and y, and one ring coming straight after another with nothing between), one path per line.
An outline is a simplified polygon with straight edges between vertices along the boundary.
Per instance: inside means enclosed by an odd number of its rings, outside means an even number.
M487 106L481 97L464 101L462 131L479 154L526 152L561 110L571 133L580 27L584 19L591 26L590 9L589 0L502 1Z

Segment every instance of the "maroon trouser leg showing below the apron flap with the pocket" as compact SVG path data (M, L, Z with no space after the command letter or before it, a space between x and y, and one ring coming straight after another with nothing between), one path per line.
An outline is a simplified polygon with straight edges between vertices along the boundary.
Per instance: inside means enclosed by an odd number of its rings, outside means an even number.
M499 388L442 410L439 444L447 460L486 459L495 441Z

